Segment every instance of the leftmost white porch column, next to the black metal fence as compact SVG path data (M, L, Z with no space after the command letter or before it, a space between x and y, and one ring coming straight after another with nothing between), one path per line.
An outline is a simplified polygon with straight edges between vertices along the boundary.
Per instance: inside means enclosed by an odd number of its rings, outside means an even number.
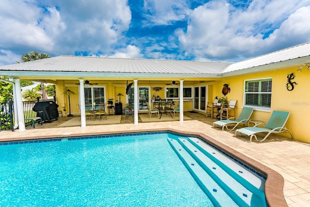
M19 131L25 131L25 119L24 119L24 110L23 110L23 103L22 103L22 98L21 98L21 88L20 88L20 80L16 79L15 80L15 91L13 92L16 94L14 102L16 102L16 105L14 104L14 110L17 111L17 116L18 116L18 127Z

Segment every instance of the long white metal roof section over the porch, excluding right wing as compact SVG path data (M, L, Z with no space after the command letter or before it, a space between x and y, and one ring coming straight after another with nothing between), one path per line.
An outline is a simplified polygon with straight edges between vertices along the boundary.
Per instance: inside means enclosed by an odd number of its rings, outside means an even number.
M218 74L232 63L57 56L0 66L10 71Z

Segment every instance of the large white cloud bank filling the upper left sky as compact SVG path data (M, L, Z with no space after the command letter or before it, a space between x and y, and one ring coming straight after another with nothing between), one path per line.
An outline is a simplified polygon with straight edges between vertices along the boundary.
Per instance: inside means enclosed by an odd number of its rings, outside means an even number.
M111 53L130 20L127 0L1 0L0 49L20 55Z

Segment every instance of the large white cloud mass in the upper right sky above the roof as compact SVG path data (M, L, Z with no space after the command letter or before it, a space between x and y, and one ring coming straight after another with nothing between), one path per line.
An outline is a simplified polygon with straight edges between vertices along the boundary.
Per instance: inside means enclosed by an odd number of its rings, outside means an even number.
M253 0L235 8L213 0L194 9L187 30L175 34L181 50L196 60L244 60L310 41L310 7L297 10L306 2Z

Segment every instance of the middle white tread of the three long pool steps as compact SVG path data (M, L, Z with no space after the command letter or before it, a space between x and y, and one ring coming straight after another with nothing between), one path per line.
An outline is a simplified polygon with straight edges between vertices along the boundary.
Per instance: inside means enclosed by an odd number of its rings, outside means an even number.
M240 184L236 179L229 175L212 159L203 154L187 139L179 138L179 141L182 145L185 146L186 150L191 152L191 156L199 161L200 165L202 165L202 168L207 171L210 176L214 177L215 180L222 181L222 183L219 185L227 189L226 192L234 199L236 203L238 203L240 206L251 206L252 199L256 199L256 196L253 194L253 192L249 191L246 187Z

